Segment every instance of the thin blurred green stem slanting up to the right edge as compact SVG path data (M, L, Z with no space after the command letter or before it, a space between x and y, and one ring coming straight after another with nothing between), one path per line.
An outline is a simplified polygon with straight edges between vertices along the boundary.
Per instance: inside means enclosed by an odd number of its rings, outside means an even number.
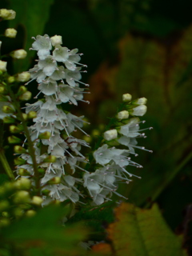
M166 178L166 182L164 182L162 184L162 186L158 187L158 190L155 191L155 193L153 194L151 201L154 202L154 200L156 198L158 198L158 196L160 194L162 194L162 191L165 190L166 186L168 186L170 184L170 182L174 179L174 177L178 174L179 170L182 169L182 167L186 166L186 163L190 161L190 159L192 158L192 152L190 152L190 154L188 154L186 156L186 158L178 165L177 168L174 169L174 172L172 172L169 177ZM150 206L150 203L147 203L145 208L148 208Z

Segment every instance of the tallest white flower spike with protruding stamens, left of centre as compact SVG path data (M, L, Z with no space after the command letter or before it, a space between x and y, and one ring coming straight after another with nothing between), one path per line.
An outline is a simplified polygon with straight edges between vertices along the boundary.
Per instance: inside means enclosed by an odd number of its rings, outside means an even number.
M60 201L70 199L72 202L78 202L81 193L76 183L82 183L82 179L74 178L72 175L77 169L83 170L78 166L79 162L87 162L87 160L80 150L81 146L88 146L88 144L74 138L72 133L76 129L82 130L84 121L83 117L77 117L62 110L61 105L69 102L77 106L78 101L83 101L83 94L86 92L79 83L88 85L79 80L82 78L81 72L84 72L81 71L82 66L85 65L79 63L81 54L77 54L78 49L68 50L61 46L61 36L56 35L50 38L45 34L38 35L34 39L31 49L38 51L39 60L38 64L30 70L32 78L30 81L37 80L38 90L44 94L44 98L34 104L27 104L26 114L31 110L37 113L37 117L33 119L34 125L30 126L29 130L35 142L38 166L46 170L41 183L44 190L50 190L50 194L45 198L44 204L55 199ZM53 47L54 50L51 52ZM43 134L49 134L48 138L43 137ZM39 138L42 138L41 141ZM41 154L43 146L46 146L47 151ZM46 162L48 155L54 156L56 161ZM23 168L33 175L30 156L22 154L22 158L27 161L27 164L18 166L18 170ZM66 172L66 168L70 171ZM55 178L58 178L58 184L53 182Z

